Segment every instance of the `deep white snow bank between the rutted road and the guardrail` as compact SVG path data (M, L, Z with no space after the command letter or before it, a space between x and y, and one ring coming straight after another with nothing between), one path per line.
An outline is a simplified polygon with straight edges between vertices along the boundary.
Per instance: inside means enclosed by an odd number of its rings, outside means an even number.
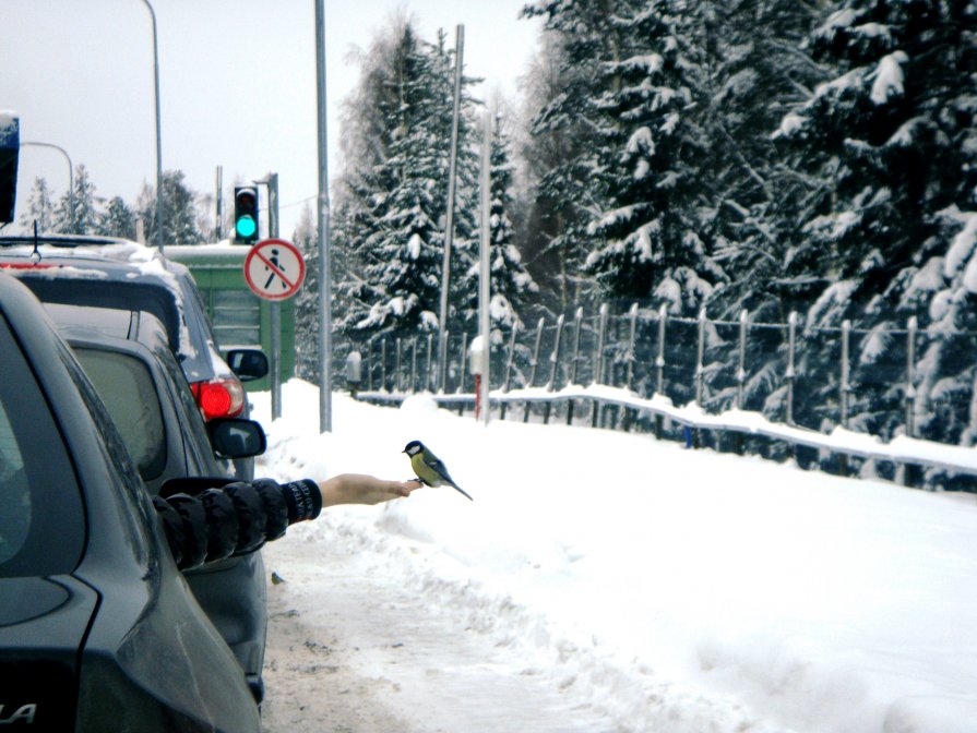
M264 470L406 478L403 446L430 445L474 503L424 490L331 521L431 613L521 650L625 730L977 731L972 496L643 435L484 426L430 396L333 405L320 436L314 388L285 385Z

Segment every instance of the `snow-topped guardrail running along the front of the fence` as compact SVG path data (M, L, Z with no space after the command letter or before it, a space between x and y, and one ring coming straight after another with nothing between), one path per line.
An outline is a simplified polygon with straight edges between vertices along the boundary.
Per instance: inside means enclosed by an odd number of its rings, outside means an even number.
M360 392L355 396L371 402L402 402L418 393L406 392ZM461 405L475 402L474 394L432 394L419 393L430 397L440 405ZM589 400L598 405L618 405L638 411L644 411L662 420L671 420L690 430L727 431L741 435L762 435L783 441L790 445L802 445L839 456L853 456L869 460L891 461L896 466L925 466L946 471L955 471L977 477L977 448L961 447L933 443L899 435L889 443L881 438L857 433L845 428L835 428L831 433L820 433L807 428L798 428L767 420L759 412L731 409L719 414L710 414L698 405L690 404L676 407L663 395L644 398L620 387L608 387L592 384L589 386L570 385L558 392L546 387L514 389L511 392L492 390L489 401L495 406L526 404L524 418L528 417L528 404L545 404L573 400ZM570 413L572 414L572 413ZM690 443L687 437L687 443ZM692 447L690 443L690 447Z

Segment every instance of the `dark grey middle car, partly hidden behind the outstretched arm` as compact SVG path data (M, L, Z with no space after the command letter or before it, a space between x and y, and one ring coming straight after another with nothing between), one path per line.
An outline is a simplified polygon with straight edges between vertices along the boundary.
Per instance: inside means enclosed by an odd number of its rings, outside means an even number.
M47 304L108 408L151 493L186 477L231 476L214 453L211 436L187 381L151 313ZM258 423L252 430L261 433ZM227 425L218 421L216 425ZM226 445L224 457L228 457ZM247 446L235 458L253 455ZM213 563L186 574L201 608L241 664L260 702L267 629L264 563L260 552Z

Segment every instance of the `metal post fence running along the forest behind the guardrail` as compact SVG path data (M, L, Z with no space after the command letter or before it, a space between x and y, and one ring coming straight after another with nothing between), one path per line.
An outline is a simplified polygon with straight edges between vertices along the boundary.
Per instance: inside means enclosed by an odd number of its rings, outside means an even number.
M957 444L967 434L974 399L973 378L929 384L920 392L932 361L931 347L940 341L942 372L966 374L974 370L977 334L930 334L915 319L905 328L860 329L848 322L835 328L803 327L797 314L785 323L758 323L743 312L737 321L668 314L633 305L612 315L607 307L596 313L579 309L570 317L539 319L528 327L497 332L492 339L490 387L537 387L556 392L565 385L604 384L623 387L642 397L658 394L675 405L695 402L710 412L738 408L767 419L829 432L841 425L890 440L907 435ZM952 339L952 343L948 343ZM379 338L364 345L361 388L371 392L445 394L474 393L468 375L467 334L449 334L449 363L440 385L433 334L412 338ZM928 364L932 370L932 363ZM458 402L460 410L465 409ZM507 418L512 410L502 402ZM559 413L558 413L559 412ZM509 416L512 419L513 416ZM519 418L550 422L588 423L667 434L662 419L621 407L567 400L526 405ZM676 433L684 440L681 433ZM725 449L723 437L701 435L703 444ZM964 438L964 442L966 440ZM823 462L817 452L798 455L759 438L737 438L735 449L772 457L790 453L800 462ZM846 466L843 470L863 470ZM875 470L874 467L871 467ZM884 478L895 467L879 469ZM916 483L975 490L973 477L929 470Z

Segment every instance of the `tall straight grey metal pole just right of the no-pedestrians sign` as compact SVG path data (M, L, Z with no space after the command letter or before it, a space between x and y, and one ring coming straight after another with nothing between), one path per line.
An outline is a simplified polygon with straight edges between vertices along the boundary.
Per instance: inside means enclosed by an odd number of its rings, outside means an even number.
M329 231L329 137L325 115L325 0L315 0L315 91L319 115L319 431L332 431L332 292Z

